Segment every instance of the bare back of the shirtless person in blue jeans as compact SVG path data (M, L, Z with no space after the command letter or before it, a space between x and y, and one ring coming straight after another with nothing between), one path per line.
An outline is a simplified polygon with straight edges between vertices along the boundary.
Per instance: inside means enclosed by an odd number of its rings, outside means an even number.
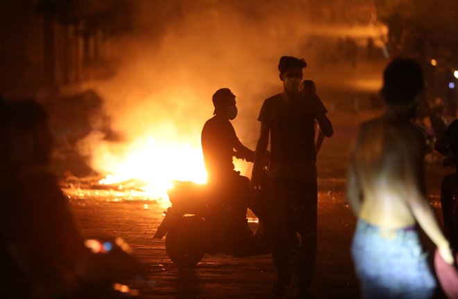
M378 118L362 125L353 161L364 194L359 218L384 228L404 228L416 221L409 208L407 161L423 157L423 138L408 122ZM421 174L419 174L421 175Z

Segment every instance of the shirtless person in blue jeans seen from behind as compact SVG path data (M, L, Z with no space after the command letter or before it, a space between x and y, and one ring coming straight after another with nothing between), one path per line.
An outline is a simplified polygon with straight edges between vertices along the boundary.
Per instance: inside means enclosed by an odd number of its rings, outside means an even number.
M358 221L351 252L363 298L432 298L436 281L417 223L452 264L450 245L423 190L425 137L409 122L423 91L414 60L384 71L384 114L359 128L348 165L347 197Z

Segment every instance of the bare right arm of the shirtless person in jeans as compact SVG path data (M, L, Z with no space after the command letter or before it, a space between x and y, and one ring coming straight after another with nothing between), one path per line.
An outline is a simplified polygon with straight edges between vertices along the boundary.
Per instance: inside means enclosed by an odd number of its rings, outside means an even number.
M410 143L410 144L409 144ZM436 220L428 199L423 194L423 143L420 137L415 141L404 141L405 147L405 174L407 184L407 203L418 224L439 248L445 262L452 264L454 261L450 244L444 237Z

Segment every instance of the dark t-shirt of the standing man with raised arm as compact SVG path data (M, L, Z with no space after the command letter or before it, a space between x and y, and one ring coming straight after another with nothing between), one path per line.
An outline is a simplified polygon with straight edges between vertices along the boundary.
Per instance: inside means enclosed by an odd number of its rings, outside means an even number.
M271 130L271 163L315 162L314 121L326 112L318 96L286 102L280 93L264 100L258 120Z

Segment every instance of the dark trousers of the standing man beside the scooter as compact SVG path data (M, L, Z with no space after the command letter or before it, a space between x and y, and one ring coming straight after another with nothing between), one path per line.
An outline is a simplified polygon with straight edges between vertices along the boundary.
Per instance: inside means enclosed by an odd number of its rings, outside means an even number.
M291 266L297 266L298 284L309 287L316 262L316 176L304 179L269 179L269 223L272 259L278 279L289 283ZM298 260L294 256L296 233L300 236Z

